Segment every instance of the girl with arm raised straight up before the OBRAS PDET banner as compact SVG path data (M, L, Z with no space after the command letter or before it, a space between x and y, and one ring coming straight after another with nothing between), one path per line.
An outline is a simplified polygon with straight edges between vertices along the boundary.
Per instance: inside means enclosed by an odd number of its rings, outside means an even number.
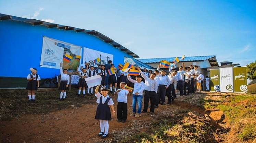
M61 75L61 82L60 82L60 100L66 99L66 91L69 87L69 75L68 75L68 69L62 70L62 64L60 63L60 75Z

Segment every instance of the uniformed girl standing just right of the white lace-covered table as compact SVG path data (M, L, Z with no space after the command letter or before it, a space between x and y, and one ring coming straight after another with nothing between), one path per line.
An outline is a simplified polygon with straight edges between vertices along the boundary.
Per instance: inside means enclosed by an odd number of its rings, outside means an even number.
M82 69L82 73L79 72L78 68L77 68L77 72L79 73L79 76L80 76L80 79L78 81L78 96L80 96L80 93L81 93L81 89L83 88L83 96L85 97L85 89L87 88L87 84L86 84L86 81L85 81L85 78L88 77L88 74L86 72L86 68L83 68Z

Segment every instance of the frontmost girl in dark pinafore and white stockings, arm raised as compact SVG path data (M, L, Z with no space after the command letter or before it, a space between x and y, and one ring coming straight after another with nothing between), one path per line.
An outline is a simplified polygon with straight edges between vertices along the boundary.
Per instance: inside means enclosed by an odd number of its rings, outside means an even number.
M98 103L95 119L100 121L100 132L99 132L98 136L99 137L101 136L101 138L104 139L108 136L108 129L109 129L108 121L110 121L112 119L111 113L110 113L110 108L112 110L113 116L115 115L115 110L114 110L114 106L113 106L114 102L108 96L109 90L106 88L105 85L101 85L100 93L99 93L98 92L99 86L100 85L98 85L95 89L95 96L97 97L96 102Z

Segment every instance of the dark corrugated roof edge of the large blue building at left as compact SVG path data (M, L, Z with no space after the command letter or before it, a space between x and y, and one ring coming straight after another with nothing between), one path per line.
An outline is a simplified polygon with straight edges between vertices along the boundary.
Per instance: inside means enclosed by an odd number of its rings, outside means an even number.
M74 30L76 32L84 32L86 34L93 35L93 36L103 40L104 42L112 45L115 48L120 49L122 52L125 52L126 54L131 55L133 58L139 58L139 56L137 54L135 54L134 52L130 51L129 49L122 46L121 44L118 44L117 42L113 41L109 37L101 34L98 31L95 31L95 30L86 30L86 29L81 29L81 28L75 28L75 27L70 27L70 26L64 26L64 25L59 25L59 24L55 24L55 23L45 22L45 21L41 21L41 20L37 20L37 19L27 19L27 18L23 18L23 17L11 16L11 15L6 15L6 14L1 14L0 13L0 21L1 20L15 20L15 21L31 23L34 26L35 25L44 25L47 28L58 28L60 30L65 30L65 31Z

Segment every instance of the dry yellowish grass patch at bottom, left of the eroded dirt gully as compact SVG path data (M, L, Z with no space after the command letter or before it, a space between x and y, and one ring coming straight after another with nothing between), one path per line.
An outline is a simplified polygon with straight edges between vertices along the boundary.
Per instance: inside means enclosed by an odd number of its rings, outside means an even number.
M150 135L133 136L131 140L139 140L142 143L197 143L197 142L216 142L215 127L204 122L203 118L188 112L182 115L181 121L173 123L173 118L165 118L154 125L153 133ZM174 119L175 120L175 119ZM173 123L173 124L172 124Z

